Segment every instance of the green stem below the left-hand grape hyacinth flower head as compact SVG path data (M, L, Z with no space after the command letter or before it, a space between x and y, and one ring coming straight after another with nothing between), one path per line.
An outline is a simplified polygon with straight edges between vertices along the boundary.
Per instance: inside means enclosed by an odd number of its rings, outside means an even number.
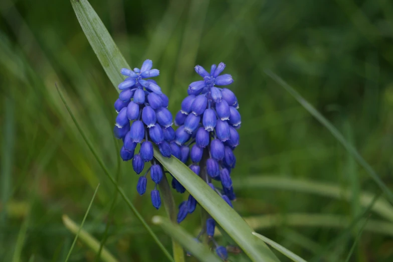
M177 223L176 222L176 205L174 203L172 191L170 190L168 179L166 178L165 174L162 177L159 187L160 187L160 191L161 191L161 198L164 202L166 214L168 215L168 217L172 223ZM183 248L174 238L172 238L172 249L173 249L173 259L175 260L175 262L184 262Z

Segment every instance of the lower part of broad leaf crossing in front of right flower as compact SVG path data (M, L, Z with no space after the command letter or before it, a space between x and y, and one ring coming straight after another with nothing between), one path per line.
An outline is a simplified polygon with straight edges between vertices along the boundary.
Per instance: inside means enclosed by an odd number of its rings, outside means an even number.
M251 233L253 229L210 186L178 159L163 157L154 147L156 159L205 208L253 261L279 261L269 247Z

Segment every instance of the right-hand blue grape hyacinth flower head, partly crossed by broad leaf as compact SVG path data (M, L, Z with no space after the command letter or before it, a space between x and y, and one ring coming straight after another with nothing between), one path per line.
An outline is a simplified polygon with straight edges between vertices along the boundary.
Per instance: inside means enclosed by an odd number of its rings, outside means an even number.
M209 73L202 66L195 66L196 73L204 80L192 82L188 86L188 96L182 101L174 120L179 126L175 143L180 146L180 161L186 163L190 159L192 164L189 168L232 207L231 201L236 197L230 174L236 165L233 150L239 145L237 129L241 117L235 94L228 88L217 87L233 83L231 75L220 75L224 68L224 63L212 65ZM212 180L221 182L221 187L216 187ZM176 179L172 180L172 187L180 193L185 191ZM189 195L188 200L179 205L177 222L183 221L195 207L196 201ZM214 243L215 227L215 220L208 218L206 233ZM224 260L227 258L225 247L217 246L216 252Z

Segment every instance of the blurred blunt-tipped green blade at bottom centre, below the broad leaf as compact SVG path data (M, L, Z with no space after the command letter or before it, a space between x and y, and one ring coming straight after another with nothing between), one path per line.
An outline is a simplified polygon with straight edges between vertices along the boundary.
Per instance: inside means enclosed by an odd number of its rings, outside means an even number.
M154 224L161 226L165 233L175 238L200 261L222 262L218 256L209 251L209 248L206 245L195 241L195 239L193 239L193 237L179 225L174 224L161 216L154 216L152 221Z

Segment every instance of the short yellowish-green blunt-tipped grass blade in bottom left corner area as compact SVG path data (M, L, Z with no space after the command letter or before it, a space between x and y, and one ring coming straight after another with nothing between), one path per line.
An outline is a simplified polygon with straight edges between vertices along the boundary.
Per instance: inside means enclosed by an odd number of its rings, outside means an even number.
M77 225L74 221L72 221L67 215L63 215L62 217L64 225L74 234L79 235L79 238L82 242L84 242L88 247L90 247L95 253L99 253L100 250L100 258L105 262L118 262L118 260L105 248L101 248L100 243L95 239L92 235L90 235L86 230L81 229L82 226Z

